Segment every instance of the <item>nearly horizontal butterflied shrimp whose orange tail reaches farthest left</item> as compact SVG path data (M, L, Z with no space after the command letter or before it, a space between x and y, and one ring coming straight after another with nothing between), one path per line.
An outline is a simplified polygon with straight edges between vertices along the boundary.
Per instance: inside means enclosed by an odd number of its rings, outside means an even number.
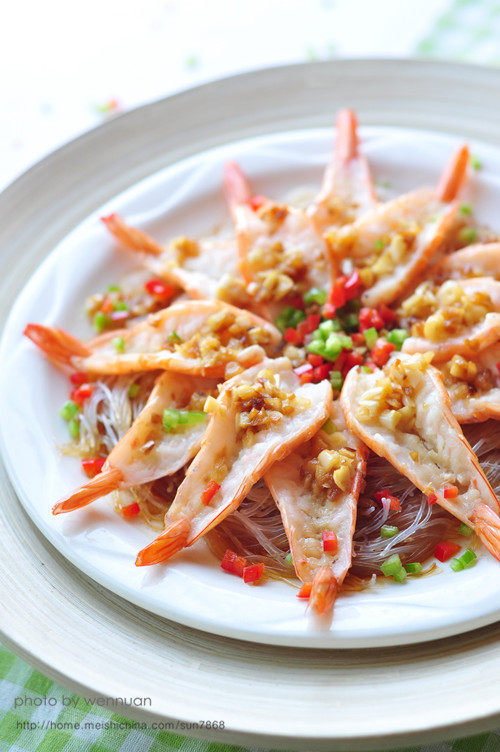
M57 327L28 324L24 333L63 368L96 374L165 369L214 378L262 360L281 339L264 319L215 300L174 303L86 344Z

